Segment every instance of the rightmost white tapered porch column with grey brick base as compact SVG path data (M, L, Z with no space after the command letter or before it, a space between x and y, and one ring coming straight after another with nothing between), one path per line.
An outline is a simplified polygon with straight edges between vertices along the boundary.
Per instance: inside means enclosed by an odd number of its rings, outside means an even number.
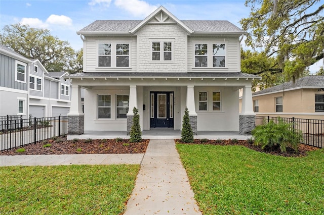
M240 135L251 135L255 128L255 113L253 112L252 87L245 86L242 95L242 111L239 114Z

